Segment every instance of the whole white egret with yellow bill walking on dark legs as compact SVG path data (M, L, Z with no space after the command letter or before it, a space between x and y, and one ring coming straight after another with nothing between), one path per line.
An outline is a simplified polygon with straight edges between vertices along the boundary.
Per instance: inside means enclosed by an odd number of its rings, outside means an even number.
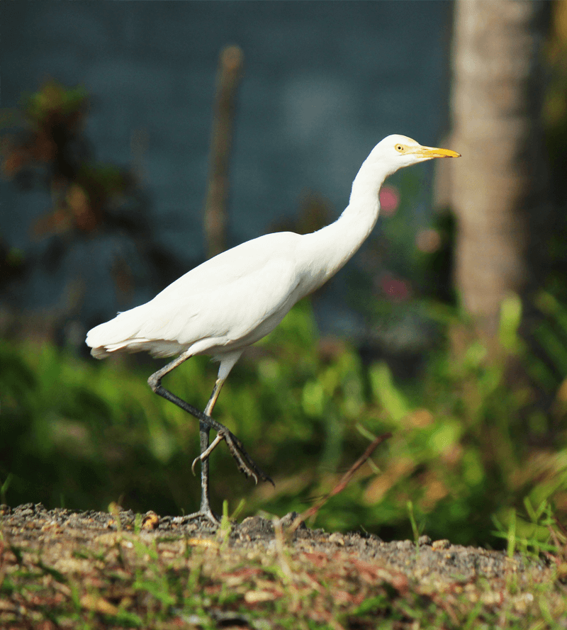
M201 455L193 466L201 460L201 509L195 517L217 522L209 502L208 456L223 439L242 472L256 481L271 481L242 442L211 417L220 388L242 351L274 330L298 300L330 279L359 249L376 225L378 192L386 177L434 157L459 153L389 135L364 160L352 183L349 205L335 223L311 234L276 232L233 247L191 269L150 302L119 313L86 335L97 359L120 351L145 350L158 357L179 354L148 383L199 420ZM167 373L196 354L220 361L204 412L162 386ZM217 435L209 445L210 429Z

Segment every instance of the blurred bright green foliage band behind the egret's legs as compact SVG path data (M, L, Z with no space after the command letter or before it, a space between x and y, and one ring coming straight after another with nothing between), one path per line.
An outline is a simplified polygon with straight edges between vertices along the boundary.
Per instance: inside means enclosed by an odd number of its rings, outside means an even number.
M552 506L567 517L567 434L560 429L567 381L547 383L555 388L548 414L534 405L531 380L510 385L510 370L532 363L517 336L520 315L520 301L507 300L500 352L491 349L489 360L462 318L447 311L454 338L430 356L419 382L400 387L385 363L364 367L348 344L318 339L310 305L300 303L250 349L215 407L276 488L254 490L221 445L212 456L213 505L230 497L233 510L246 497L246 514L304 510L373 435L391 431L374 461L322 507L316 525L364 527L387 538L411 538L417 527L434 538L502 546L493 520L505 530L513 519L517 536L535 536L543 546L549 531L537 529L533 514ZM554 322L563 352L565 317L563 309ZM449 349L459 344L462 351ZM191 475L197 423L151 392L150 366L83 361L50 344L6 341L0 366L0 485L11 476L9 503L106 509L116 500L161 513L198 505ZM215 366L201 357L167 376L175 393L201 407L214 380Z

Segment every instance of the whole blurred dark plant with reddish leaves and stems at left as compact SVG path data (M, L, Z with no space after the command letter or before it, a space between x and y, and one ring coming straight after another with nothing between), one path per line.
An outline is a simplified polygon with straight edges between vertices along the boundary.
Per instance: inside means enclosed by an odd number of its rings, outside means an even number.
M150 271L147 284L162 288L181 274L179 262L157 242L149 196L135 169L96 161L84 134L90 101L82 86L50 79L17 109L1 111L1 173L21 190L48 193L46 212L33 223L30 237L50 241L38 257L0 238L0 286L25 280L34 266L55 269L77 242L101 232L133 242L140 266ZM129 297L134 274L123 254L115 254L108 272L118 294Z

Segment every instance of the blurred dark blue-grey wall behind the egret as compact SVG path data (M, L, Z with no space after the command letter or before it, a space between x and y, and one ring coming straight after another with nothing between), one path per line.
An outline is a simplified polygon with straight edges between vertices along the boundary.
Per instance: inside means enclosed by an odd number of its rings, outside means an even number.
M87 135L103 161L128 164L148 137L145 186L159 240L182 263L204 257L201 212L218 52L245 52L232 159L230 242L296 213L305 189L339 213L362 160L388 133L433 144L447 125L451 4L442 1L2 2L1 106L53 77L93 95ZM430 171L422 170L425 189ZM1 235L24 252L45 193L1 186ZM79 274L85 311L116 310L108 266L129 245L94 237L60 269L11 293L48 308ZM133 303L150 298L143 288Z

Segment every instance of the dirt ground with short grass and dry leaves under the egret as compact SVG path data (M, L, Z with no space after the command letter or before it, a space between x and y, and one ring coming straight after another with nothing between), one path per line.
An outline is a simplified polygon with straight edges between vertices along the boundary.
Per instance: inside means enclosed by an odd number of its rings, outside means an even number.
M304 524L289 533L295 517L215 529L118 507L1 505L0 627L459 628L471 615L536 619L545 597L567 628L554 563L428 536L384 542Z

